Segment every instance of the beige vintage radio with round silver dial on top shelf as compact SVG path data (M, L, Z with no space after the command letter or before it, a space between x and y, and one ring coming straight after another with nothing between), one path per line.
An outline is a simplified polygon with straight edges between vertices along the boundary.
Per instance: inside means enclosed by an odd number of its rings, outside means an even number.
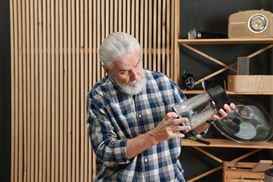
M228 18L228 38L270 38L273 14L267 10L244 10Z

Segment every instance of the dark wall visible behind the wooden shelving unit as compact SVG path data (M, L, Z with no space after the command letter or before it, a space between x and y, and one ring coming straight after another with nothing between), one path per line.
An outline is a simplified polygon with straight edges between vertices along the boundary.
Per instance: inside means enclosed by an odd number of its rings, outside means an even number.
M199 31L225 34L228 35L228 17L232 13L237 13L239 10L269 10L273 11L272 0L241 0L241 1L219 1L219 0L181 0L181 23L180 23L180 38L187 36L190 29ZM232 64L237 61L238 56L248 56L251 53L265 47L265 45L192 45L198 50L202 50L211 57L219 59L226 64ZM250 73L251 74L273 74L272 63L273 50L267 50L260 55L251 58ZM190 71L196 79L203 78L209 73L213 73L218 69L223 68L218 66L208 59L197 55L195 52L183 48L180 52L180 73ZM236 69L236 68L235 68ZM227 80L229 74L235 74L232 71L225 71L211 80ZM187 95L193 97L193 95ZM272 95L245 95L248 99L253 99L267 110L273 117L273 96ZM225 139L214 127L211 127L206 138ZM238 156L247 153L250 149L237 148L203 148L218 156L222 160L232 160ZM272 150L260 151L255 155L244 159L243 161L258 162L258 160L272 160ZM186 180L192 179L202 172L207 172L209 169L221 165L215 160L211 160L199 151L190 147L182 147L181 162L185 169ZM204 181L222 181L222 170L214 174L210 174L199 180Z

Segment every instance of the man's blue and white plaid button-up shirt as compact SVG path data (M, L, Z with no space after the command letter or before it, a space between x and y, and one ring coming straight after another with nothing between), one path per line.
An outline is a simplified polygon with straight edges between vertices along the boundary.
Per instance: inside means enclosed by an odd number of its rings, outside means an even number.
M94 181L185 181L179 161L181 139L172 138L128 160L128 139L155 128L185 95L167 76L144 69L146 89L123 94L108 76L87 94L87 125L97 177Z

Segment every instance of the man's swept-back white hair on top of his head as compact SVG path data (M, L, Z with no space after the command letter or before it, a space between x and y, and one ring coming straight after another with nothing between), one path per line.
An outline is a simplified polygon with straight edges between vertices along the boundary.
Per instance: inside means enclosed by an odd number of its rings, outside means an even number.
M99 48L99 59L111 70L113 62L123 58L134 51L134 48L141 55L139 41L134 36L124 32L109 34Z

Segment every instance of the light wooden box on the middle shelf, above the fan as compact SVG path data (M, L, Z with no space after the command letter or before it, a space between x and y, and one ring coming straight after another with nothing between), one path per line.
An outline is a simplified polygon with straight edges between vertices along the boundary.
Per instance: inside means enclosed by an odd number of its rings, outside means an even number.
M228 91L231 92L273 92L272 75L230 75Z

